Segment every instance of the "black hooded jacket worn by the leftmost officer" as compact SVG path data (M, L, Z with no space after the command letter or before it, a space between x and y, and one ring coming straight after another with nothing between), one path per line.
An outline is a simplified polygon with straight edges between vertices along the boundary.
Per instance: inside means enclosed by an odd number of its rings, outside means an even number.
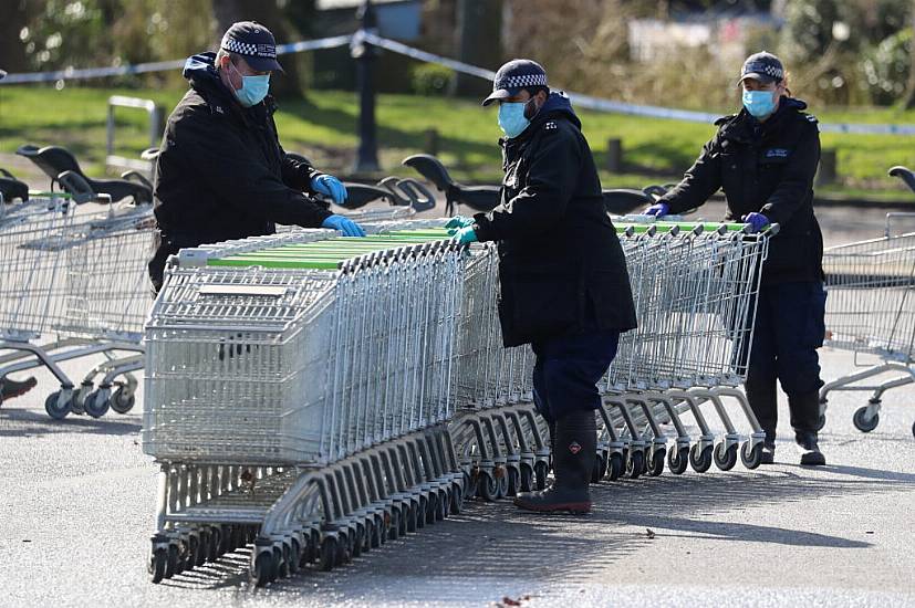
M271 234L274 222L316 228L331 214L304 193L318 171L280 146L272 98L243 108L220 81L215 57L187 60L190 90L168 117L159 148L160 237L149 262L156 290L165 260L180 248Z

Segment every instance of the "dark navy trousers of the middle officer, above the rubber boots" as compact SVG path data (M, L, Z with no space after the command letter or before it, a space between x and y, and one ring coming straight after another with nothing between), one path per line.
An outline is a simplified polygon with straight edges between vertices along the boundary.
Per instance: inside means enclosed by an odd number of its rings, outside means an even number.
M596 385L613 363L618 344L616 331L563 335L531 344L537 355L533 401L540 415L553 423L570 411L600 407Z

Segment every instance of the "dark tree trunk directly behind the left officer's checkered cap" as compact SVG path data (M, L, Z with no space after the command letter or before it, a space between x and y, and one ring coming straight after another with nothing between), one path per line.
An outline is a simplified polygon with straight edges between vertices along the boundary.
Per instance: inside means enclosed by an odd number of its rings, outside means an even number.
M277 0L212 0L212 13L216 18L217 41L222 40L226 30L237 21L257 21L263 23L277 39L277 44L298 42L297 32L287 22ZM301 97L303 94L299 66L294 54L279 57L285 74L270 78L270 91L277 96Z

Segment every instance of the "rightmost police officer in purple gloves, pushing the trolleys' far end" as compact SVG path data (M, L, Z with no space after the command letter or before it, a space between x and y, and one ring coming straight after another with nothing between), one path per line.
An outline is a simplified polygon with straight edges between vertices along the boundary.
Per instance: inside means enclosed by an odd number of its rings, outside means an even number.
M647 213L679 213L722 188L727 219L755 230L778 223L762 268L762 286L747 369L747 398L766 431L762 461L776 449L778 392L788 395L801 464L825 464L817 441L820 365L825 333L823 237L813 214L813 176L820 161L817 118L788 91L784 67L770 53L744 63L744 108L719 118L718 133L683 181Z

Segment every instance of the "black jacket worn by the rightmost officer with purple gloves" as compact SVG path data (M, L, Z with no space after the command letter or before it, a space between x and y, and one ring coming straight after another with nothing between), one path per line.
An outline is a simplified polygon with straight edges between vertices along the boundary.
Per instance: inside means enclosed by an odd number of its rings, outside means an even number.
M778 223L762 270L763 284L823 280L823 235L813 214L813 176L820 163L817 118L807 104L782 97L760 123L746 109L719 118L718 133L674 189L661 200L679 213L703 205L719 188L727 220L752 211Z

